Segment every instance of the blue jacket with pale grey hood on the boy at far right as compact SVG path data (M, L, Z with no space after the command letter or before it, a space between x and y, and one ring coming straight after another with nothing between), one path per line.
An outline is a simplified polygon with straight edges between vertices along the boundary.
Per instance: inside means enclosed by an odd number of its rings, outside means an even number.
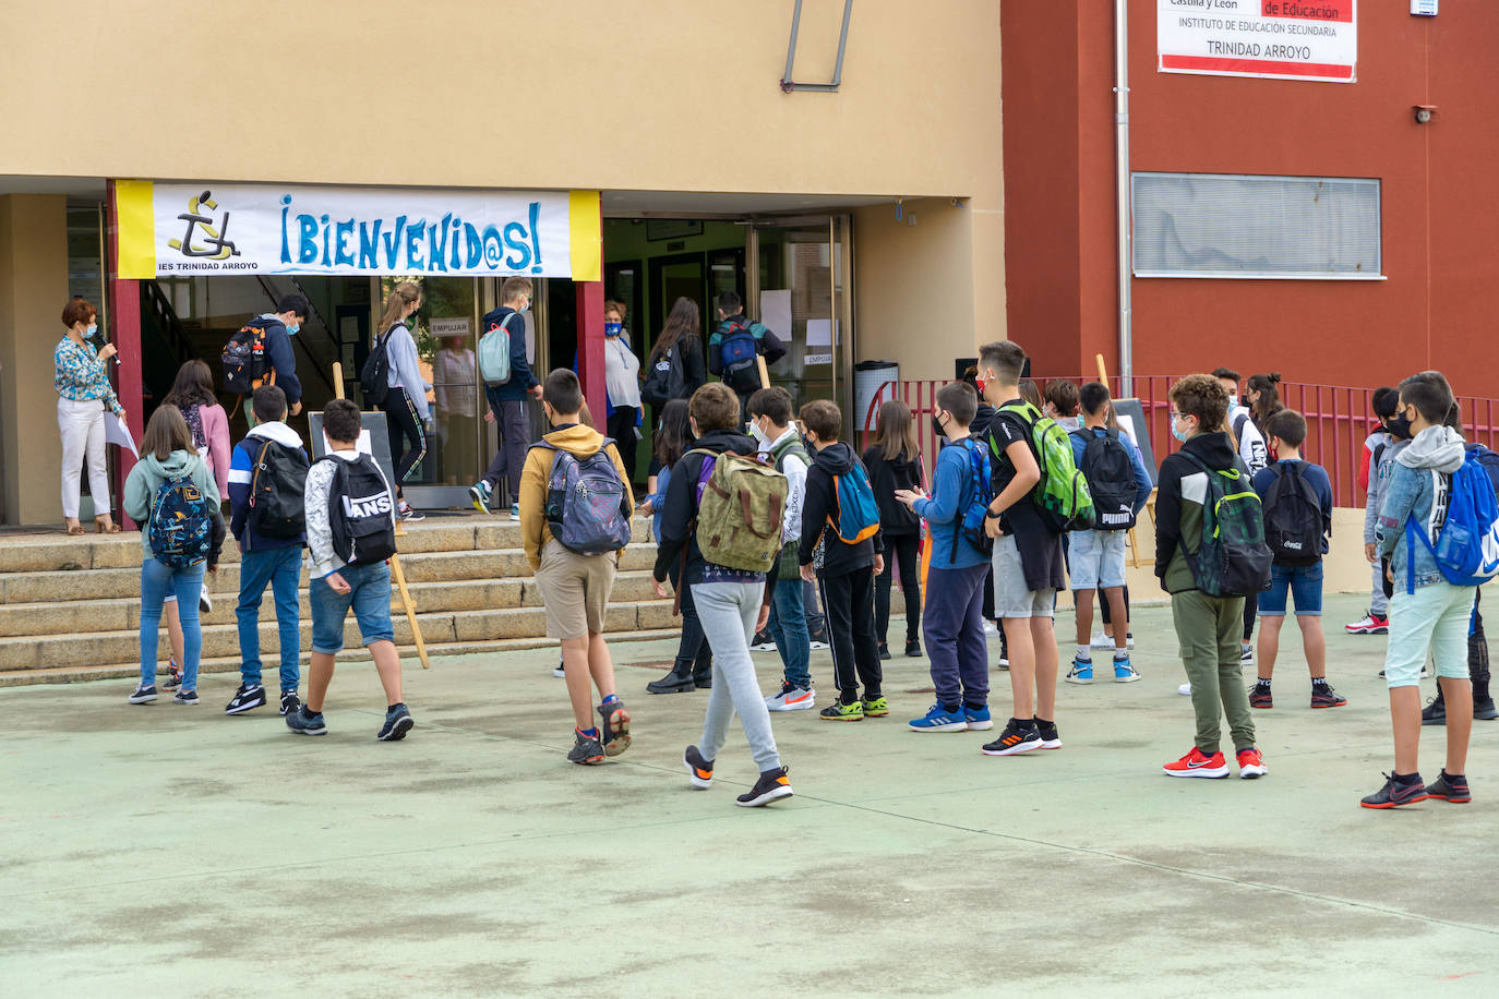
M1417 530L1424 530L1427 539L1436 544L1436 535L1447 523L1453 472L1462 467L1463 451L1460 433L1451 427L1427 427L1394 457L1375 526L1375 545L1381 556L1390 559L1397 590L1412 583L1408 566L1415 571L1415 587L1444 581L1436 556L1426 545L1417 542L1412 550L1405 544L1405 527L1406 520L1414 517Z

